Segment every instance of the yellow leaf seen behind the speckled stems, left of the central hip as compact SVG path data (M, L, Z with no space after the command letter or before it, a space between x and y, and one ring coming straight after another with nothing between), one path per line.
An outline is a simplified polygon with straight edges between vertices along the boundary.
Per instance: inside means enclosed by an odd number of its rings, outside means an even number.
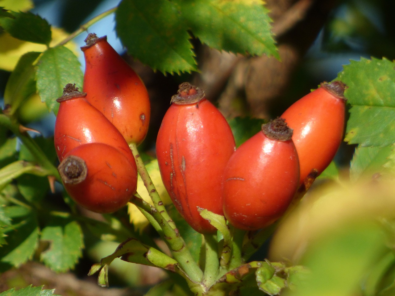
M158 160L154 159L150 161L150 163L145 165L145 167L164 205L170 204L171 199L169 197L169 193L167 193L166 188L163 185L162 177L160 176L159 172ZM141 180L140 176L138 176L137 179L137 193L143 200L152 204L152 200L150 199L148 191L145 188L143 180ZM134 204L128 203L128 213L130 217L130 223L134 225L135 229L142 231L149 224L148 220L143 214L141 214L139 209Z

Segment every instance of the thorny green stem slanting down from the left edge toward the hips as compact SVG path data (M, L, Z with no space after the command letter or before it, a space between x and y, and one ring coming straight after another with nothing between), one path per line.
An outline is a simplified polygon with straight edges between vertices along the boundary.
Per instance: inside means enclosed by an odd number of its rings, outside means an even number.
M59 172L56 167L49 161L47 155L41 150L40 146L30 137L30 135L26 132L21 132L19 130L20 124L11 122L11 119L4 115L0 114L0 125L7 127L11 130L15 136L17 136L22 143L28 148L30 153L36 159L37 163L44 169L48 171L48 174L51 176L55 176L56 180L62 182Z

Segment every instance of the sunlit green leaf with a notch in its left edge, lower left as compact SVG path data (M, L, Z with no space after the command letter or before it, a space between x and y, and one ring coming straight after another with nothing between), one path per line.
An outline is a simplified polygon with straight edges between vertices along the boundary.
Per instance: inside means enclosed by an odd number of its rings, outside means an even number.
M42 230L41 240L50 242L50 246L41 253L40 259L55 272L73 268L82 255L82 230L71 218L51 217Z

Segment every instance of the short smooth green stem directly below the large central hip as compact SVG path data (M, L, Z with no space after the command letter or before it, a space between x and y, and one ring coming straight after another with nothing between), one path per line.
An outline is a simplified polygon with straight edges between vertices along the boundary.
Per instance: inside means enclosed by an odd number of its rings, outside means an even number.
M203 234L205 242L205 268L203 282L211 287L219 272L218 242L213 234Z

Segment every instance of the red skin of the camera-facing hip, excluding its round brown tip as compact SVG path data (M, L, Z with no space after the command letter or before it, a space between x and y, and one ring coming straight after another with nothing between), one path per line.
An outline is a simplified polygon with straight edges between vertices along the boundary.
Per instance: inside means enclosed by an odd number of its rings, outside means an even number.
M79 184L64 184L79 205L97 213L112 213L125 206L137 188L137 170L116 148L103 143L77 146L65 155L81 157L88 168Z

